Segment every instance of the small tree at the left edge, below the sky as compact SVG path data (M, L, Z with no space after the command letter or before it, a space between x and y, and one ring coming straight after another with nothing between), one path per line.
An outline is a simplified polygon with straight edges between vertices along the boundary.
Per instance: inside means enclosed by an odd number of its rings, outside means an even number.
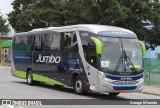
M0 33L7 34L9 32L8 24L6 24L6 19L0 14Z

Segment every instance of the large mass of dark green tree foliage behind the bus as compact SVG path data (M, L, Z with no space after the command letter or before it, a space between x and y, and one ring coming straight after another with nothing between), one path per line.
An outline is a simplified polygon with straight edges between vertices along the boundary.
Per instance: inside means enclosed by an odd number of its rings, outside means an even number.
M48 26L104 24L127 28L160 45L160 3L149 0L14 0L9 22L17 32ZM142 21L155 25L147 30ZM147 38L146 38L147 37Z

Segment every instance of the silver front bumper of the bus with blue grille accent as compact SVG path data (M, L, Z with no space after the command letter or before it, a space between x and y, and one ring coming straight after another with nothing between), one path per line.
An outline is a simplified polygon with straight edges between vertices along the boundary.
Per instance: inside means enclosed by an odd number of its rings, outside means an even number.
M97 92L99 93L120 93L127 92L142 92L144 80L136 81L118 81L106 80L107 78L98 78ZM133 83L134 82L134 83ZM125 84L126 83L126 84Z

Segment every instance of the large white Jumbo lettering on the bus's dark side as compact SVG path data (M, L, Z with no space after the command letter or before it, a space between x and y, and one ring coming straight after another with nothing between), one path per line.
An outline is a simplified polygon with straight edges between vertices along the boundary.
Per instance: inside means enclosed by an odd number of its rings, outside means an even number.
M59 63L61 61L61 57L60 56L53 56L53 54L51 54L51 56L42 56L41 54L39 54L38 59L36 60L36 62L40 62L40 63Z

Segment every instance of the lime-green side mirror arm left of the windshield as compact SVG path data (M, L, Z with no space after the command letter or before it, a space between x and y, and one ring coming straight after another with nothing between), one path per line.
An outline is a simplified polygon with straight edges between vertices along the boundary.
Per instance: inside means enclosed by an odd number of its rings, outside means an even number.
M96 52L97 54L102 54L102 43L99 39L96 37L91 37L91 39L95 42L96 44Z

